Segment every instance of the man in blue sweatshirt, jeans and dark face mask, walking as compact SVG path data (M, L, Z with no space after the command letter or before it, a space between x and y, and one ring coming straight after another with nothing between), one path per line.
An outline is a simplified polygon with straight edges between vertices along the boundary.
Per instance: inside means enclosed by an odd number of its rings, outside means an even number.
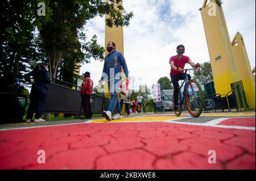
M104 81L108 81L111 100L110 100L108 111L102 112L102 116L109 121L111 121L112 119L114 120L122 119L121 108L120 108L120 104L117 96L117 91L118 91L117 89L121 81L122 68L125 73L126 81L128 81L128 68L126 65L125 58L123 57L122 53L117 52L115 48L116 48L115 43L113 41L109 41L107 45L107 50L109 54L105 57L102 77L99 81L100 85ZM112 113L114 112L115 107L117 108L118 113L112 117Z

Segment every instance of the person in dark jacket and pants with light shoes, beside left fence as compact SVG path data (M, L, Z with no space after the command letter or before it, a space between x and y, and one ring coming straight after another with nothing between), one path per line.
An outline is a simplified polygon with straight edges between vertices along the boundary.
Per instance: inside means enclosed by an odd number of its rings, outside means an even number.
M41 119L41 117L48 92L47 83L51 82L48 65L42 63L30 73L24 75L25 81L31 83L31 76L34 78L34 83L32 83L30 92L30 105L28 106L26 123L31 122L34 112L36 112L34 122L44 122L46 120Z

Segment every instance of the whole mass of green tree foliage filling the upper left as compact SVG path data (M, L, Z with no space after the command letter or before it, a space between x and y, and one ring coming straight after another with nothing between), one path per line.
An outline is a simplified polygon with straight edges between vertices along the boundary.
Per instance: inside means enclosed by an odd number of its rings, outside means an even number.
M38 3L46 15L38 15ZM104 47L97 36L86 36L86 24L96 16L108 15L106 24L128 26L133 12L114 4L121 0L3 0L0 4L0 77L12 82L32 69L34 62L49 62L51 76L74 79L77 63L102 61ZM122 12L121 12L122 11ZM61 65L61 66L60 66ZM71 73L72 72L72 73ZM61 74L62 73L62 74Z

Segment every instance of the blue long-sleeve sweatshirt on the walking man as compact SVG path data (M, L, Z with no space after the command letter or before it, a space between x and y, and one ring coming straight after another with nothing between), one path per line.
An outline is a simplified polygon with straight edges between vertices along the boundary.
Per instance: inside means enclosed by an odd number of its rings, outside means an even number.
M119 74L122 73L122 68L123 68L126 78L128 78L128 68L126 65L125 58L123 57L122 53L114 50L114 52L112 54L108 54L108 56L105 57L101 81L103 81L104 79L108 79L108 80L113 79L113 78L119 79L119 77L121 77L121 76L116 77L116 75L117 75L117 73L119 73ZM114 69L114 77L110 77L111 69ZM106 77L104 75L104 73L107 74L108 77Z

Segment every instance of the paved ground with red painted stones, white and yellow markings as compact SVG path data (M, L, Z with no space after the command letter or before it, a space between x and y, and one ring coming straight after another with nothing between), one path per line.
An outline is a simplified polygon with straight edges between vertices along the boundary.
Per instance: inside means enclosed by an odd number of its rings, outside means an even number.
M0 125L0 169L255 169L255 113L181 116Z

